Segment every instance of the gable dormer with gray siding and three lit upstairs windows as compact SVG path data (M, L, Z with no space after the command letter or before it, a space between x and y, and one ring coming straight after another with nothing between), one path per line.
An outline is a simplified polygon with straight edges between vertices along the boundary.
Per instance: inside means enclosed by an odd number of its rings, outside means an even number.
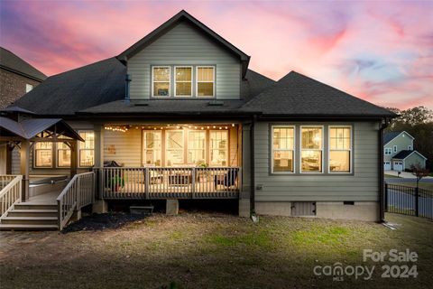
M250 57L182 10L118 59L131 99L239 99Z

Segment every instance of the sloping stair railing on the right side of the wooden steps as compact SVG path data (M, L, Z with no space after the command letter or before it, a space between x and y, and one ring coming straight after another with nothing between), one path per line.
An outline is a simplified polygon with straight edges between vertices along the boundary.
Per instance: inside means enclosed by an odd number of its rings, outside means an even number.
M68 223L74 210L80 210L95 200L95 172L76 174L57 198L59 229Z

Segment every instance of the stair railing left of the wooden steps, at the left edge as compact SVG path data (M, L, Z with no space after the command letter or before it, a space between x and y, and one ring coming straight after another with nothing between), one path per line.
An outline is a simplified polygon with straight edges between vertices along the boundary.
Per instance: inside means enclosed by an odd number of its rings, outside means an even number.
M21 201L22 181L22 175L0 176L2 188L0 191L0 221L14 207L14 204Z

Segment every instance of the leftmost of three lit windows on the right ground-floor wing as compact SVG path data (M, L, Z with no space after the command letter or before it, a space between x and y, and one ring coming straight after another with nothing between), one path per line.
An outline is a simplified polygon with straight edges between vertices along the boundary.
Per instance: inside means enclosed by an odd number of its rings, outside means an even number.
M272 172L294 172L295 128L272 127Z

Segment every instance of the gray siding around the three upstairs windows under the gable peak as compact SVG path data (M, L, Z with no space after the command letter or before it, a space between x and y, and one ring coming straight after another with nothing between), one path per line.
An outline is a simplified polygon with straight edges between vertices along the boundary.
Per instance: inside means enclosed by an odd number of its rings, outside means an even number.
M217 98L240 98L240 61L185 22L179 23L128 60L128 73L132 76L131 98L151 97L153 65L180 64L215 65Z

